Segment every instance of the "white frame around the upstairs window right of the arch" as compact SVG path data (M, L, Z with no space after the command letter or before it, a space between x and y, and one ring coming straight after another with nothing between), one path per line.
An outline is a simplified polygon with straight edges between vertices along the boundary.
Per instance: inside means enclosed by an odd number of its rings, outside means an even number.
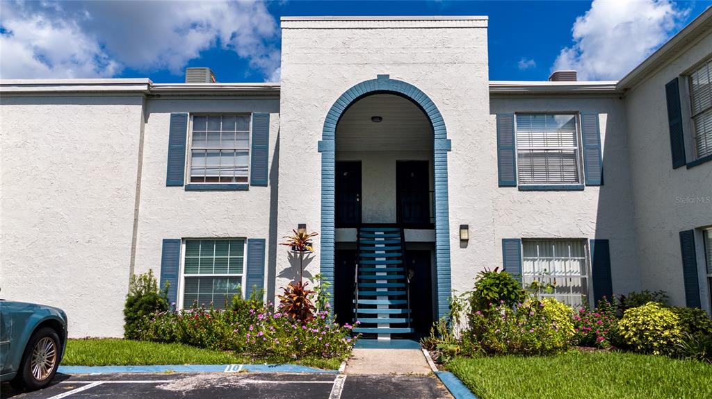
M519 170L519 141L517 140L517 131L518 131L518 126L517 126L517 116L518 115L572 115L574 116L574 124L575 124L575 137L576 137L576 170L578 174L578 181L577 182L529 182L529 183L523 183L521 181L521 176L522 174L520 173ZM514 124L514 168L517 173L517 187L520 187L520 190L528 190L528 189L539 189L539 188L545 188L545 189L557 189L560 188L562 190L571 190L571 189L578 189L582 190L582 187L584 187L584 182L585 182L585 177L584 177L584 167L583 167L583 137L582 137L582 131L581 131L581 112L580 111L522 111L522 112L515 112L514 113L514 118L513 118L513 124ZM570 148L568 148L570 149Z

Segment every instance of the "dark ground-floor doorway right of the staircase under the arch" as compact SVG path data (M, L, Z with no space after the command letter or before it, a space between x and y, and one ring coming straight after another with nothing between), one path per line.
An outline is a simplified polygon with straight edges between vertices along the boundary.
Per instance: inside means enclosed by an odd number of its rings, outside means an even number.
M415 334L423 337L433 325L433 288L430 266L430 251L413 249L406 251L406 263L410 280L410 308Z

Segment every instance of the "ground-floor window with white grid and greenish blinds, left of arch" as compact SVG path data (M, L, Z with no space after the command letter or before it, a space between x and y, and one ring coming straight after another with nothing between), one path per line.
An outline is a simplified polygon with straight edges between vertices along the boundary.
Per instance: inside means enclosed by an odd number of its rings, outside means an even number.
M187 239L182 275L183 307L223 309L242 295L244 239Z

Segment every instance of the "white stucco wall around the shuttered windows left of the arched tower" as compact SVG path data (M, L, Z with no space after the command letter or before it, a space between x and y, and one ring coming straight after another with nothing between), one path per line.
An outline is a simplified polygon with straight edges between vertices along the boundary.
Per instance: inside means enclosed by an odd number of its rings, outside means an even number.
M270 114L268 186L250 186L246 191L166 187L172 112ZM274 201L278 198L274 180L279 169L275 148L280 133L278 99L150 99L147 114L135 272L145 273L151 268L159 274L163 239L260 238L267 239L267 253L272 253L277 238L270 234L270 220L276 217Z

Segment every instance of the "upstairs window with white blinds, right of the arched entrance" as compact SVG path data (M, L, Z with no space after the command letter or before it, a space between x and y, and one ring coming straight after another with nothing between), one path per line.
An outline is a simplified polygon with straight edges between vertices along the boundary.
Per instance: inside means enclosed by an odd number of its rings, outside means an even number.
M580 184L575 114L517 114L520 185Z

